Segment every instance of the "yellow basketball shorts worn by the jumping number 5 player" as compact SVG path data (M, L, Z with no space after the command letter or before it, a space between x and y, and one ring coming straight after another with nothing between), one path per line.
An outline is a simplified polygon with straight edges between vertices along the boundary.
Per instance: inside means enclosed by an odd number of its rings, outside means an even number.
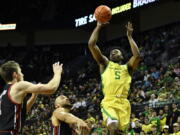
M117 104L118 103L118 104ZM115 105L115 106L113 106ZM119 130L126 131L130 122L131 106L127 99L116 100L114 104L103 102L101 106L103 123L107 126L107 119L118 120Z

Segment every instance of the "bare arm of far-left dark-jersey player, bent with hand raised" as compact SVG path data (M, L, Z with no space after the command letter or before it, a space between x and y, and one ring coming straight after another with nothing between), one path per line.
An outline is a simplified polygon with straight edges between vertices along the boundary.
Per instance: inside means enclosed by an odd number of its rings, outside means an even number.
M53 64L53 78L47 84L33 84L27 81L20 81L15 84L14 89L22 93L53 94L59 87L62 73L62 64Z

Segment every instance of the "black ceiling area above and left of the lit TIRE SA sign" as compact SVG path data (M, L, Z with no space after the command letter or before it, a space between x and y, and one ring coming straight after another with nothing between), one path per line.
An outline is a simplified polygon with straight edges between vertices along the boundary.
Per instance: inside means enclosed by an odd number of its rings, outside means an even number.
M98 5L116 5L127 0L4 0L0 23L21 26L68 26L73 19L93 13Z

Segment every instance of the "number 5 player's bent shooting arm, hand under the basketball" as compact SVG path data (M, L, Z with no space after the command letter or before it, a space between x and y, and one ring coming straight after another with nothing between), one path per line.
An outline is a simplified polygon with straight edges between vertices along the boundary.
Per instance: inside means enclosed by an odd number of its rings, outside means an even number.
M99 47L97 46L97 40L98 40L98 37L99 37L99 32L101 30L101 28L104 26L105 24L101 24L99 22L97 22L97 26L96 28L94 29L93 33L91 34L91 37L89 39L89 42L88 42L88 47L93 55L93 58L96 60L96 62L99 64L99 65L104 65L106 66L108 64L108 59L106 56L104 56L102 53L101 53L101 50L99 49Z

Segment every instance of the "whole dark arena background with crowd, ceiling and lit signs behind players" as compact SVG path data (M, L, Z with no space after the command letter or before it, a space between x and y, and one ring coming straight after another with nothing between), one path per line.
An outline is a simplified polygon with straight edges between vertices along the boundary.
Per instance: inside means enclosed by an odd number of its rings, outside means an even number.
M109 57L110 48L119 46L125 60L132 56L128 21L140 49L128 97L128 134L180 135L180 0L6 0L0 4L0 64L17 61L25 80L36 84L51 79L54 62L63 63L58 90L38 95L22 135L50 135L54 101L61 94L70 98L73 114L89 123L90 135L108 135L99 67L88 49L99 5L112 9L98 40L103 54Z

